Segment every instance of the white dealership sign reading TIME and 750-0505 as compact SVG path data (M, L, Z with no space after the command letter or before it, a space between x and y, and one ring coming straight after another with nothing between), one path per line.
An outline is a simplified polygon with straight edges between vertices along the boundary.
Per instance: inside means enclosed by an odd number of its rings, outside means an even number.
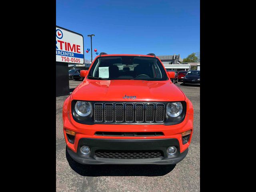
M56 26L56 62L84 64L84 37Z

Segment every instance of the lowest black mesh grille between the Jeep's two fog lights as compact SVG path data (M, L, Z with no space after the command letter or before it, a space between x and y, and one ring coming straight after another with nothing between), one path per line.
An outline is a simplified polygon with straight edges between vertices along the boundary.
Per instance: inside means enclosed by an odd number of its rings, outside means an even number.
M160 150L96 150L97 158L115 159L147 159L162 158L163 152Z

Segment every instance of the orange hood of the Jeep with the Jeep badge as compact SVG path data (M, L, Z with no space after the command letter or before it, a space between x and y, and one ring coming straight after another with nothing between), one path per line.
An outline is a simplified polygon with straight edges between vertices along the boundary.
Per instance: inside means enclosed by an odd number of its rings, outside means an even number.
M132 99L130 98L131 96ZM72 99L116 102L168 102L184 101L185 96L170 80L89 80L85 78L73 91Z

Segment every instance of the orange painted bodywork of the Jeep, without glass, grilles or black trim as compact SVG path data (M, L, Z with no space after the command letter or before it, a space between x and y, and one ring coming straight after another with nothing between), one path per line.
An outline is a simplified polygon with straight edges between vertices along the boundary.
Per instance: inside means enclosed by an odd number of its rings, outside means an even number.
M148 55L102 55L104 56L147 56ZM98 58L97 56L94 61ZM157 58L157 57L156 57ZM159 59L160 60L160 59ZM161 62L161 60L160 60ZM162 64L162 62L161 62ZM162 64L163 65L163 64ZM91 69L90 66L89 70ZM164 67L164 65L163 65ZM78 140L80 138L105 138L105 139L135 139L134 137L118 137L118 136L96 136L96 131L108 132L163 132L164 136L155 136L158 138L177 138L180 144L180 152L188 148L193 134L193 116L194 110L192 103L185 96L185 94L174 85L170 78L166 81L145 81L145 80L92 80L87 79L88 71L80 72L81 76L85 76L83 82L79 84L68 98L64 101L63 105L63 131L66 144L70 149L76 152L78 147ZM173 72L174 73L174 72ZM166 74L171 74L167 73ZM173 74L171 74L173 75ZM170 76L169 76L170 77ZM90 94L88 91L90 90ZM168 91L170 90L170 91ZM139 94L138 94L139 93ZM123 96L126 95L139 95L136 102L175 102L186 101L186 116L184 120L175 125L163 124L94 124L86 125L76 122L71 114L71 101L72 100L86 100L86 101L114 101L114 102L127 102ZM135 102L135 101L134 101ZM76 132L74 144L68 142L65 130L72 130ZM191 130L191 136L186 144L182 144L181 133ZM136 139L152 139L152 137L136 137Z

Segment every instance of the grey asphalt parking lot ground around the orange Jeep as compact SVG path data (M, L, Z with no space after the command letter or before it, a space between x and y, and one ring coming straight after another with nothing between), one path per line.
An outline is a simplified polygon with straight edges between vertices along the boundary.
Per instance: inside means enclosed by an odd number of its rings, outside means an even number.
M70 89L81 81L70 80ZM62 105L56 97L56 191L200 191L200 86L175 84L194 106L194 134L187 156L176 166L80 165L66 156L62 130Z

